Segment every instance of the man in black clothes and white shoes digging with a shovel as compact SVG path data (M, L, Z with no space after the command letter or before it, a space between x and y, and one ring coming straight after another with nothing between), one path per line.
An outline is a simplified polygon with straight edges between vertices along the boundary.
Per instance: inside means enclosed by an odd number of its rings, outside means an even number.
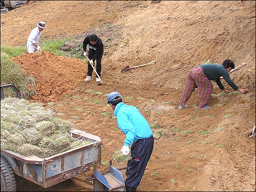
M87 45L89 45L89 51L87 53ZM101 58L103 55L103 44L102 40L95 34L87 35L86 38L83 40L82 44L83 48L83 55L86 57L88 55L89 61L88 61L88 72L87 72L87 78L85 81L92 81L92 72L93 68L91 65L94 66L94 61L96 59L96 71L101 76ZM100 79L96 75L96 82L100 82Z

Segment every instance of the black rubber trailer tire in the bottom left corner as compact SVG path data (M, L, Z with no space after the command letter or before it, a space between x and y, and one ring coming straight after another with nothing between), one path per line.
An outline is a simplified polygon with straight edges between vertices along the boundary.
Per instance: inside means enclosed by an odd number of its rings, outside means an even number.
M16 191L15 175L9 162L1 156L1 191Z

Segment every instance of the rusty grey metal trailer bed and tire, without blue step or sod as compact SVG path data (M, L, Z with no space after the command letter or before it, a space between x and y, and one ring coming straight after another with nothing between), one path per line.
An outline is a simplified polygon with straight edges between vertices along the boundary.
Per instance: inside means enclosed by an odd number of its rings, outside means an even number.
M81 137L79 132L72 133L73 137ZM82 136L91 143L45 159L1 150L1 191L16 191L14 174L47 188L96 170L101 162L101 139L85 132Z

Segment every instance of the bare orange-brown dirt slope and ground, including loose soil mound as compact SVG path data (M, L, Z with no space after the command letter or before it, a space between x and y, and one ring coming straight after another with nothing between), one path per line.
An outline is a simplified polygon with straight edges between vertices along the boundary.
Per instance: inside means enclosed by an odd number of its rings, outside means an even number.
M135 105L154 132L165 133L155 139L138 191L255 191L255 137L244 134L255 125L255 1L29 1L1 14L1 44L26 44L40 20L48 27L41 41L71 37L78 45L87 34L102 38L103 85L83 81L85 60L24 53L13 60L36 77L31 102L99 136L102 161L113 159L125 138L106 105L112 91ZM189 69L226 58L246 63L230 77L248 93L222 95L212 82L210 109L198 109L195 91L178 110ZM120 73L153 60L155 65ZM93 190L92 183L80 182L86 176L47 189L18 180L18 190Z

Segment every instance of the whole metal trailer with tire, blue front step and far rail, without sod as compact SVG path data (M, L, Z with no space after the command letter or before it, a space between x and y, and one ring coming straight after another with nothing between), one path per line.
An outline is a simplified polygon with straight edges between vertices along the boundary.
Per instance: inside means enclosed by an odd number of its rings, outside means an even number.
M20 91L13 84L1 86L1 99L4 98L4 88L11 88L20 99ZM94 191L125 191L120 170L126 167L115 168L110 160L108 171L100 173L96 170L101 162L101 139L79 130L71 130L70 134L74 138L82 136L84 141L91 143L45 159L1 150L1 191L16 191L14 174L47 188L92 169L94 174L86 181L93 180Z

